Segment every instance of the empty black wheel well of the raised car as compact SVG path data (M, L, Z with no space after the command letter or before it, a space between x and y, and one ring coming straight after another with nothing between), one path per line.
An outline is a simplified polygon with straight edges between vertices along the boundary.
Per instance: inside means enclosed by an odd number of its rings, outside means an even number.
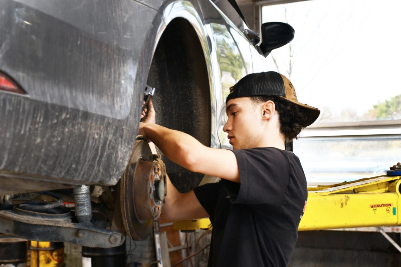
M191 24L172 20L153 55L147 85L156 88L156 123L211 145L211 90L202 45ZM163 157L171 182L180 192L196 187L203 174L189 172Z

